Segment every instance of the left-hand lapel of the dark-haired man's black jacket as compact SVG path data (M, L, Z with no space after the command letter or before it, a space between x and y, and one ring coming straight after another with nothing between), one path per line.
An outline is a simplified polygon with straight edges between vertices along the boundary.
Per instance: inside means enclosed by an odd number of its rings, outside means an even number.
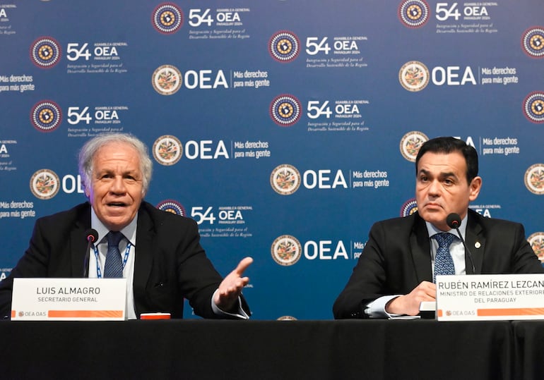
M410 233L410 252L418 283L432 281L429 233L427 233L425 221L419 215L415 215L415 221Z

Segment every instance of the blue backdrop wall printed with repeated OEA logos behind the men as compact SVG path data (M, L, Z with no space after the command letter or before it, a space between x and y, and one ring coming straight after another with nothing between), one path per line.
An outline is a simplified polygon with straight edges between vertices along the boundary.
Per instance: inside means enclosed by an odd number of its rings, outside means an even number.
M331 319L439 135L480 154L471 207L544 259L541 0L12 0L0 47L1 278L35 219L85 201L78 149L114 130L221 273L254 257L255 319Z

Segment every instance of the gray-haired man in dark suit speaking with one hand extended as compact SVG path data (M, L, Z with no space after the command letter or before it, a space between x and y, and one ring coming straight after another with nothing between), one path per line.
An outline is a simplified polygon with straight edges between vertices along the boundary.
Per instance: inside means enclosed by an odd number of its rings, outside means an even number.
M206 318L249 318L242 288L251 257L222 278L201 247L192 219L162 212L143 197L152 163L145 145L132 135L107 134L81 149L79 171L89 202L36 221L30 247L0 283L0 317L11 314L11 290L16 277L81 277L85 255L88 276L118 276L127 280L129 319L146 312L183 317L184 298L195 314ZM90 252L87 232L97 243ZM119 235L117 232L120 232ZM119 250L111 254L108 236L119 235ZM118 262L113 274L111 263Z

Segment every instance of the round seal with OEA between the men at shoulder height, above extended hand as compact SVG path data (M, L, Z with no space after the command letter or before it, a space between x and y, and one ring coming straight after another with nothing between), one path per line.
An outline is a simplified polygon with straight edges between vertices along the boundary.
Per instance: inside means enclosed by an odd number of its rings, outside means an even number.
M309 240L300 244L292 235L281 235L271 245L271 255L274 261L282 266L296 264L302 255L308 260L336 260L349 259L348 251L342 240Z

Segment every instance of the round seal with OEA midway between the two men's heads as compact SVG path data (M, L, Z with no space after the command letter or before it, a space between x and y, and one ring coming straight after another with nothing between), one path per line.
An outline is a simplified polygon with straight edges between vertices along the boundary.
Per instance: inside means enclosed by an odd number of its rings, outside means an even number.
M276 166L270 175L270 185L274 191L280 195L291 195L298 190L301 183L304 188L313 190L318 189L336 189L348 188L348 182L345 180L341 169L331 171L330 169L319 169L317 171L307 170L300 176L295 166L282 164Z

